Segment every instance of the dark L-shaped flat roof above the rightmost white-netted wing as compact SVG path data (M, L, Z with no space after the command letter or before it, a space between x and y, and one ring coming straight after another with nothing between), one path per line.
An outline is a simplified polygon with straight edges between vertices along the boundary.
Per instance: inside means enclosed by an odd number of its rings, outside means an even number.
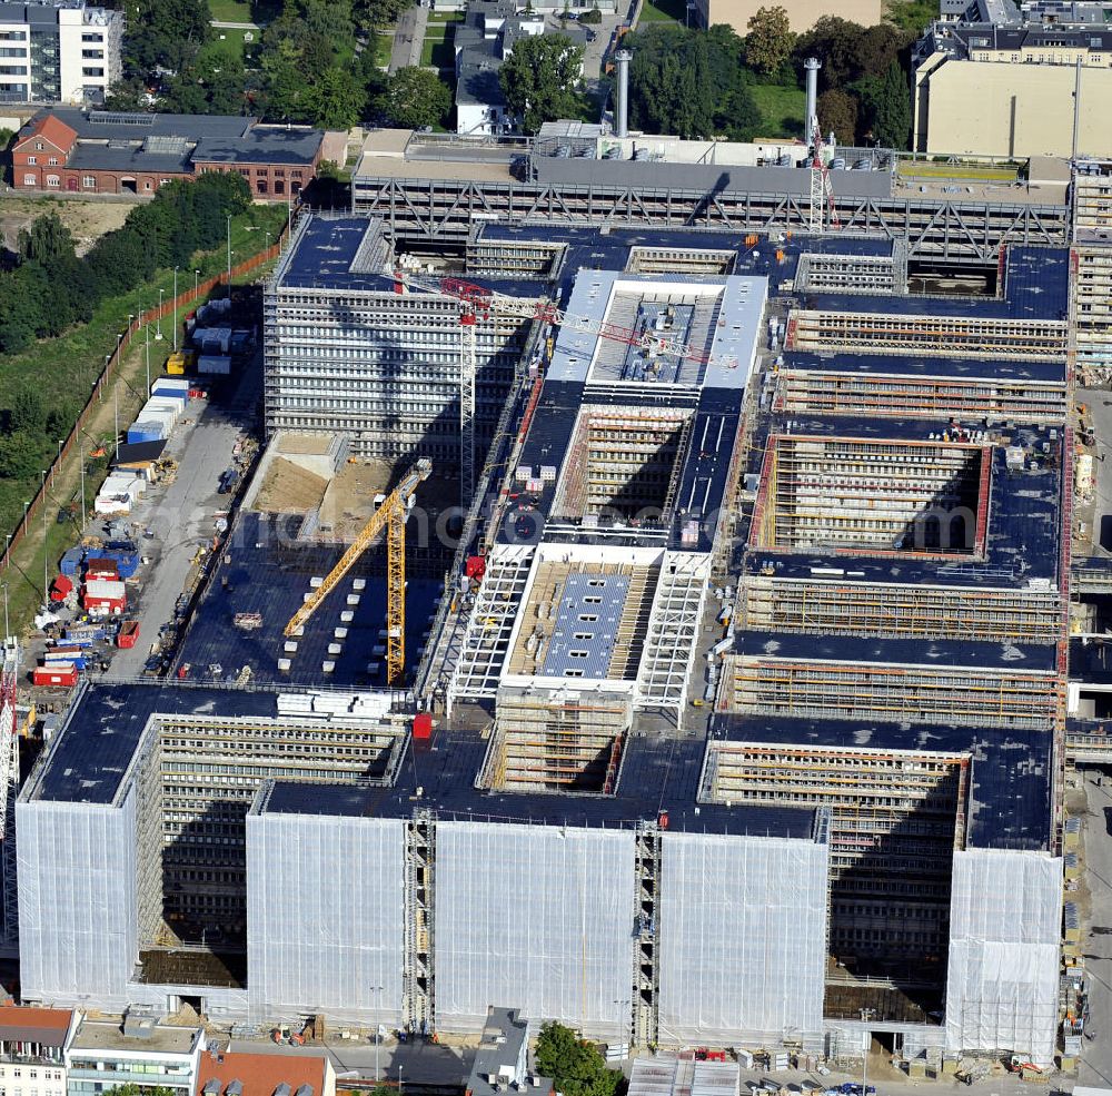
M984 849L1049 848L1052 822L1053 732L945 723L810 720L719 714L713 742L821 747L845 750L920 750L967 753L969 845Z

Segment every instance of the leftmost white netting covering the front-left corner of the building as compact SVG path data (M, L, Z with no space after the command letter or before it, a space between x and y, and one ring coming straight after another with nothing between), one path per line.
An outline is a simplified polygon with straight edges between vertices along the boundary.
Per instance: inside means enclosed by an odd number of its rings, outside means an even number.
M135 793L121 807L16 807L20 984L27 1000L127 1004L138 959Z

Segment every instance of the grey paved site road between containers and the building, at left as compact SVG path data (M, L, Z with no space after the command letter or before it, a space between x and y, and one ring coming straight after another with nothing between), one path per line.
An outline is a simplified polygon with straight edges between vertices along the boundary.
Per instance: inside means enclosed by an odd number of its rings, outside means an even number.
M142 552L152 556L152 562L140 571L139 643L116 652L107 674L110 678L142 673L158 630L173 618L197 547L211 541L214 515L228 507L228 495L218 494L217 485L220 473L232 463L236 440L249 425L262 384L261 371L261 357L257 356L244 367L229 398L203 404L190 401L186 407L182 417L196 422L191 426L179 424L167 446L167 453L178 461L177 478L132 517L155 532L153 540L142 541Z

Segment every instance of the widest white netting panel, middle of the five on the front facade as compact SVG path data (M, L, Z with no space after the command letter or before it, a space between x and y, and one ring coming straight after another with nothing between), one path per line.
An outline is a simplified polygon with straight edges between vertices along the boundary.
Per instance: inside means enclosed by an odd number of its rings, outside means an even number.
M441 821L438 1024L478 1030L496 1005L627 1038L633 924L632 831Z

